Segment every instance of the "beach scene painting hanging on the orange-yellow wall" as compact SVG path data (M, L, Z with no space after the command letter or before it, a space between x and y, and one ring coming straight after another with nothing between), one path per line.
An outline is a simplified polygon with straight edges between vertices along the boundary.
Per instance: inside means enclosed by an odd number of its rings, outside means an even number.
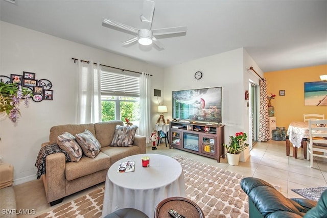
M305 83L305 106L327 106L327 82Z

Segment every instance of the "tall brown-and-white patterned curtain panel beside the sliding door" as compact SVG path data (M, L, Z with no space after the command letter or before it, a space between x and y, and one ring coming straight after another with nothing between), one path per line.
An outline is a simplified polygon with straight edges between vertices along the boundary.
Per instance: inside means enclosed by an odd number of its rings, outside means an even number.
M269 140L269 117L266 78L260 80L259 141Z

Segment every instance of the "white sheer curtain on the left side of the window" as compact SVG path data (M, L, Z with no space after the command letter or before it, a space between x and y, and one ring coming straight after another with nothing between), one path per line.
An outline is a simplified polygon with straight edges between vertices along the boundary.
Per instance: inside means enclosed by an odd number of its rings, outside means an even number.
M78 124L101 122L100 63L81 62L78 59Z

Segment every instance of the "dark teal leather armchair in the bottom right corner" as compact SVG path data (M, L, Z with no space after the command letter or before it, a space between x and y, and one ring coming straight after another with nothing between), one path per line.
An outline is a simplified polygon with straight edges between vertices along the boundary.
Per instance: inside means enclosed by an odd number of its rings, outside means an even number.
M249 197L250 218L327 217L327 190L316 202L303 198L286 198L271 184L258 178L243 178L241 187Z

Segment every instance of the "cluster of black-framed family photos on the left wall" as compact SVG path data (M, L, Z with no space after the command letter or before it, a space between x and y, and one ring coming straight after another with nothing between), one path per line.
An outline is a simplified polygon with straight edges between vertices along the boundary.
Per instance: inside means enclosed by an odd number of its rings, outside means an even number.
M34 102L53 100L52 83L47 79L37 80L35 72L23 71L22 75L11 74L10 81L31 89Z

